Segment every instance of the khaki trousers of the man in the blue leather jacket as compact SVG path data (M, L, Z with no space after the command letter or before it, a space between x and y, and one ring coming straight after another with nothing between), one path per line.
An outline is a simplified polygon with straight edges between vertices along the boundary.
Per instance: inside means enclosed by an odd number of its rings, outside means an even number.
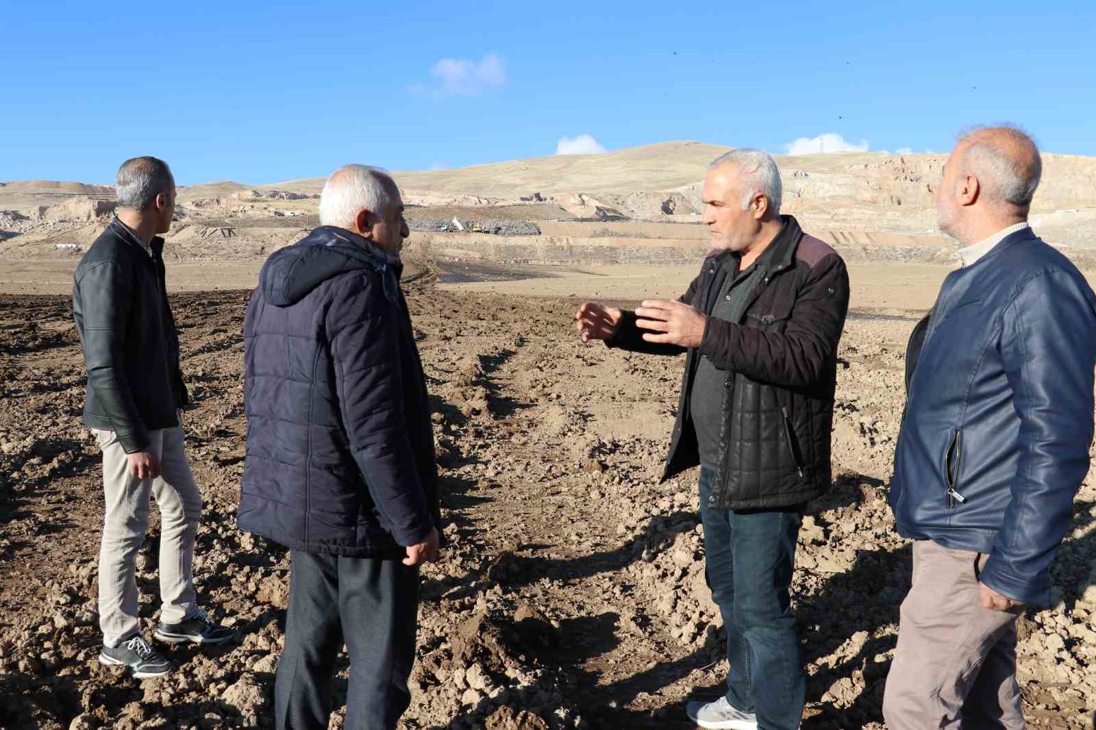
M913 544L913 586L902 602L883 694L889 730L1025 727L1016 683L1018 609L978 603L987 557L932 540Z

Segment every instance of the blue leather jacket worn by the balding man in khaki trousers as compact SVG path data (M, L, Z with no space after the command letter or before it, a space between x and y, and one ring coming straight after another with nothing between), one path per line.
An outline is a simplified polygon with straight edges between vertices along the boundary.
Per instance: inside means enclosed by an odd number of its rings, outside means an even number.
M1030 229L952 272L907 350L899 533L986 554L982 583L1049 601L1088 471L1094 366L1096 297Z

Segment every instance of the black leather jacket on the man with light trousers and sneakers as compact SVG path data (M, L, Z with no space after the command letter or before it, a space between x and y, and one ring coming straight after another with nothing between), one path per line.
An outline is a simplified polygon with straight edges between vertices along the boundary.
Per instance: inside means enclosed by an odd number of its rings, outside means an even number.
M88 393L83 423L114 431L127 454L149 431L179 425L186 404L179 338L163 280L163 239L152 255L115 218L77 266L72 316L83 345Z

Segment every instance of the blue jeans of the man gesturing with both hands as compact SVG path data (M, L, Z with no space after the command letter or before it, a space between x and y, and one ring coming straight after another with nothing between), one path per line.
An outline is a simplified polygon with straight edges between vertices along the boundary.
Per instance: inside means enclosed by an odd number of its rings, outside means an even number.
M712 471L700 469L705 574L727 627L727 700L756 712L760 730L795 730L807 675L788 589L802 506L708 509Z

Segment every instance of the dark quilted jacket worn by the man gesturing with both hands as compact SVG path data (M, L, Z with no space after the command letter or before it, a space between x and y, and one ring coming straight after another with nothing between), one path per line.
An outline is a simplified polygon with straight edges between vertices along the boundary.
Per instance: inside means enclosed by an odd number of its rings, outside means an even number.
M830 433L837 342L848 311L848 273L837 253L807 236L791 216L758 262L745 313L737 322L708 318L698 350L688 350L663 479L699 464L689 415L699 354L733 373L722 393L722 457L709 506L731 510L800 504L830 488ZM681 300L711 311L719 294L723 251L705 260ZM644 342L635 312L625 312L607 344L636 352L680 354L682 347Z

